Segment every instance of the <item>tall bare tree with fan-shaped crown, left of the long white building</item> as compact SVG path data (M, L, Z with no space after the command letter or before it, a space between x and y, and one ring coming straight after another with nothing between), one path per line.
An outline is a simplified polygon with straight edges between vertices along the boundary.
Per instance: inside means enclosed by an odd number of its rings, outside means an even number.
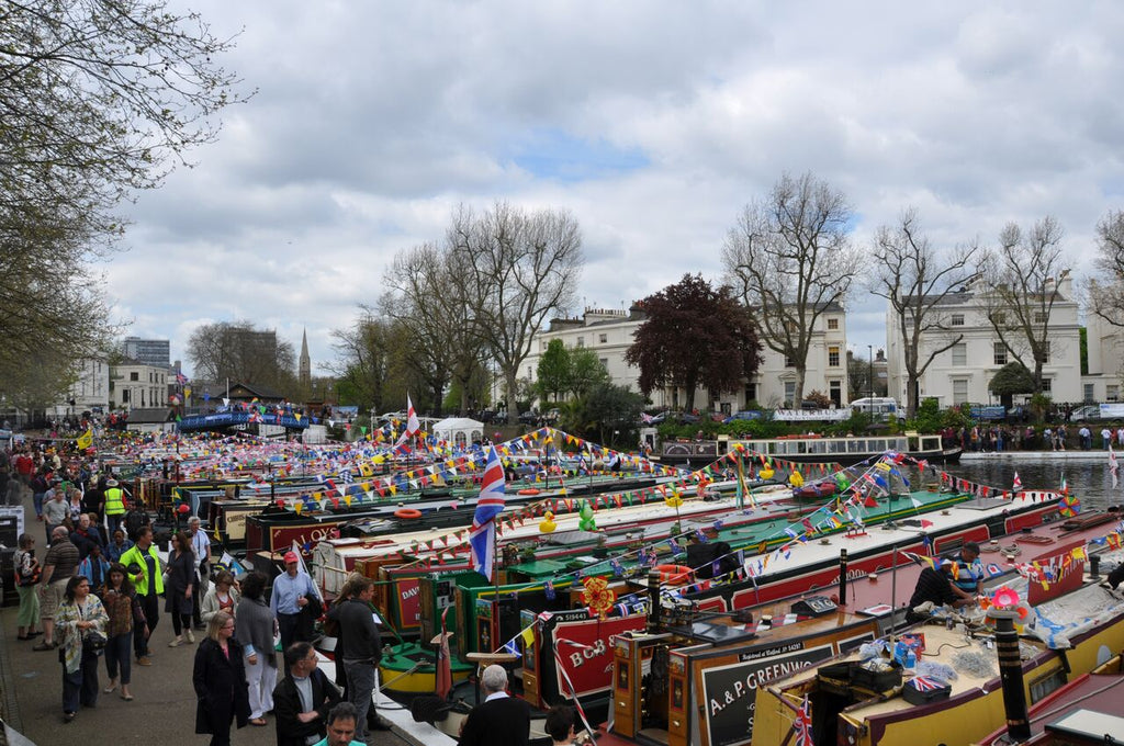
M496 202L483 215L461 207L448 231L455 282L468 299L475 333L504 375L508 422L518 421L519 366L534 335L565 312L584 264L581 230L565 211L525 212Z

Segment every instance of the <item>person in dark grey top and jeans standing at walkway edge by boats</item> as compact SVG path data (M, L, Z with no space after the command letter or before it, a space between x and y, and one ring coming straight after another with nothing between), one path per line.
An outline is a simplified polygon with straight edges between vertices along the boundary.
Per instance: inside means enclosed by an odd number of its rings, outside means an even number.
M369 577L355 581L355 595L339 606L333 607L328 618L339 622L341 649L336 661L343 661L347 674L347 699L355 706L359 719L355 722L355 740L363 740L366 733L366 711L371 707L374 692L375 671L382 658L379 628L374 624L371 601L374 599L374 581ZM382 727L380 722L380 728Z

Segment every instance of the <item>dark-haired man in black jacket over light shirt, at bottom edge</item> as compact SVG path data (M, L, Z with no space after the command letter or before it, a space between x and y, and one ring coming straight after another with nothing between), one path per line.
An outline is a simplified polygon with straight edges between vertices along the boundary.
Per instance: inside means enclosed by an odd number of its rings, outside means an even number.
M327 733L328 711L339 703L339 690L317 667L309 643L293 643L284 658L289 675L273 689L278 746L311 746Z

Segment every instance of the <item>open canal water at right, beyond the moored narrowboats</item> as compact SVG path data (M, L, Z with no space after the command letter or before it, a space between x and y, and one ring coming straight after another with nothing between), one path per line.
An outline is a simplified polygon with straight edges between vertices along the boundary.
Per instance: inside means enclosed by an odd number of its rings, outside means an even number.
M1124 454L1118 454L1117 458L1124 458ZM1018 461L962 461L936 468L1000 490L1010 490L1016 472L1024 490L1059 490L1064 476L1070 494L1077 495L1084 509L1104 510L1109 506L1124 504L1124 471L1120 486L1113 490L1107 453L1098 458L1068 461L1049 456Z

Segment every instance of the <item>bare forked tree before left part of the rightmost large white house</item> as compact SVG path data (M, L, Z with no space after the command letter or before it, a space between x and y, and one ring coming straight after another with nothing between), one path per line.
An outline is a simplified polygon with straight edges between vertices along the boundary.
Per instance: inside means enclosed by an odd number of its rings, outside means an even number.
M937 355L964 338L950 324L946 301L979 274L980 254L979 245L971 244L939 256L919 222L917 211L907 209L896 225L878 229L871 252L876 275L870 292L889 302L900 335L909 417L917 413L921 376ZM933 339L923 353L922 342Z

